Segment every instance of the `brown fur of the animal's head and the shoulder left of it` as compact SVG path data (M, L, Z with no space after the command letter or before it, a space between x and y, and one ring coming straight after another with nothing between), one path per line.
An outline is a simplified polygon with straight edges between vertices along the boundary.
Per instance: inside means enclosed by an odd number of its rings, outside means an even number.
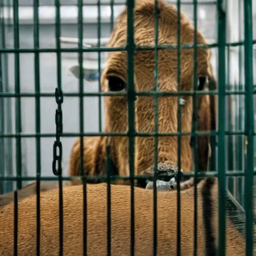
M175 44L177 34L177 12L173 5L162 0L158 1L158 44ZM119 47L126 44L127 13L122 11L116 19L108 46ZM181 44L193 43L193 26L190 20L181 13ZM139 46L154 45L154 1L137 0L134 8L134 40ZM206 44L203 35L197 31L197 43ZM197 49L197 76L212 77L210 66L210 50ZM106 68L101 75L101 90L107 91L107 78L117 76L127 81L127 53L111 52ZM193 49L181 49L181 80L180 89L192 89ZM158 90L177 91L176 83L177 50L158 50ZM136 91L150 91L154 87L154 51L144 50L134 53L134 82ZM182 106L182 131L191 131L192 97L185 96L186 103ZM105 103L105 132L127 131L127 103L125 96L107 96ZM201 101L198 109L198 130L211 129L210 98L208 95L198 96ZM154 97L137 96L135 101L135 127L138 132L154 131ZM177 131L177 97L165 96L158 99L158 131ZM127 137L111 136L111 158L116 167L115 174L129 175ZM184 172L193 170L192 151L189 145L190 136L181 139L181 168ZM199 170L207 169L209 137L198 139ZM105 172L106 137L83 138L83 169L86 174L96 176ZM154 137L135 138L135 174L142 174L153 164ZM176 136L158 137L158 163L177 165ZM69 175L79 175L80 138L77 138L70 154Z

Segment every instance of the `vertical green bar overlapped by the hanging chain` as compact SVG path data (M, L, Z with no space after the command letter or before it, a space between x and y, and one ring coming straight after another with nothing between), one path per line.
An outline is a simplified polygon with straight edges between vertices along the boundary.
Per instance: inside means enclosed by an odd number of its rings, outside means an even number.
M60 2L55 0L56 20L55 20L55 37L57 49L57 87L61 90L61 52L60 52ZM63 195L62 195L62 170L59 170L58 187L59 187L59 256L63 254Z

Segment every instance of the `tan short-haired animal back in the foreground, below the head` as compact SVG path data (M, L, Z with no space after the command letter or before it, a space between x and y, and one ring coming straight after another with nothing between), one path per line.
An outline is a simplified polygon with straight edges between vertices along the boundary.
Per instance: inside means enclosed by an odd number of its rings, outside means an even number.
M107 186L87 185L87 255L107 255ZM218 241L216 178L197 184L197 255L216 255ZM157 255L176 255L177 192L157 192ZM193 255L194 188L180 192L181 253ZM227 196L228 198L228 196ZM40 255L58 255L58 189L40 196ZM152 255L153 192L134 188L135 255ZM0 209L0 255L13 254L13 202ZM245 255L244 212L226 207L226 255ZM229 214L230 213L230 214ZM238 231L240 229L240 231ZM36 254L36 196L18 203L18 255ZM83 188L63 187L63 255L82 255ZM111 255L130 253L130 187L111 185Z

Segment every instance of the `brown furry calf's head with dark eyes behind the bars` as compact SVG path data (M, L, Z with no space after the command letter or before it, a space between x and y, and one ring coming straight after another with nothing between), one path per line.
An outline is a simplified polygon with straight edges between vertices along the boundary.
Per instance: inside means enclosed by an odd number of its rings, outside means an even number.
M174 6L158 1L158 44L177 42L177 10ZM153 0L136 0L134 7L134 42L137 46L154 46L155 15ZM193 44L194 28L190 20L181 12L180 44ZM117 17L108 46L126 45L127 9ZM197 31L197 44L206 44L203 35ZM193 48L180 49L180 90L193 89ZM177 92L177 49L158 50L158 91ZM155 55L154 50L134 51L134 85L137 92L155 91ZM197 81L211 77L210 50L197 48ZM200 84L201 86L202 84ZM113 95L104 98L106 132L126 132L128 128L127 97L114 95L116 91L127 89L127 52L110 52L101 75L102 91L112 91ZM208 96L203 96L207 102ZM182 96L181 131L191 131L192 97ZM177 96L158 97L158 132L177 132ZM181 102L181 101L180 101ZM155 130L155 97L136 97L135 129L137 132L154 132ZM206 110L205 110L206 111ZM206 125L207 126L207 125ZM207 127L205 127L207 129ZM135 174L150 172L154 163L154 136L135 137ZM193 169L192 151L189 145L190 136L181 136L181 169L184 172ZM112 148L112 159L120 175L128 175L128 138L113 136L109 143ZM177 168L177 136L158 136L159 168L173 170Z

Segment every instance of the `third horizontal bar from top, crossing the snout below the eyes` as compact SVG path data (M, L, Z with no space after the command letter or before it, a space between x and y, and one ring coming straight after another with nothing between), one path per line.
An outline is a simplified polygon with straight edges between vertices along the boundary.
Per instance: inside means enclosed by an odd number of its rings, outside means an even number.
M196 135L203 136L203 135L218 135L217 131L196 131ZM244 135L244 131L225 131L225 135ZM254 133L255 134L255 133ZM130 133L129 133L130 135ZM129 136L126 132L63 132L61 134L62 137L76 137L76 136ZM166 133L159 133L159 132L134 132L132 136L135 137L151 137L151 136L187 136L191 135L191 132L166 132ZM55 133L9 133L9 134L0 134L0 138L9 138L9 137L55 137Z

